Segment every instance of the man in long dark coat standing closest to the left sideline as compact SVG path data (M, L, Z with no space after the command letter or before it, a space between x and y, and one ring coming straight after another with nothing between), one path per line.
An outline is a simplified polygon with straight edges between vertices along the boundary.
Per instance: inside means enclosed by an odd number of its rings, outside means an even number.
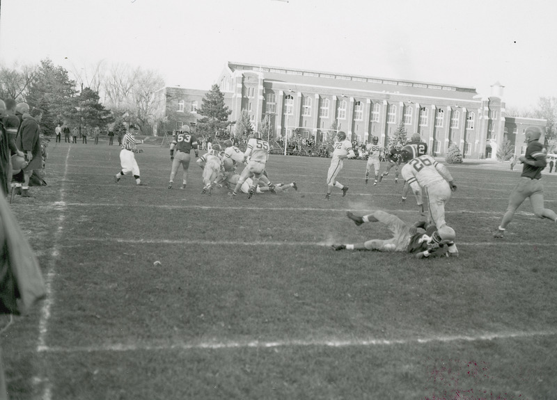
M23 170L22 197L32 197L29 194L29 178L33 175L33 170L42 168L39 137L40 118L42 118L42 110L40 109L33 109L31 114L24 114L22 125L19 127L19 133L17 134L17 148L26 154L26 160L29 162L29 165Z

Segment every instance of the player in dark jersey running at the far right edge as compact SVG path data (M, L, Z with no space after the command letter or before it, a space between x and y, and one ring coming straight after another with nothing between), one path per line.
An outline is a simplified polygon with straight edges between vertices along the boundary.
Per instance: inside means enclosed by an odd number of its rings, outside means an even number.
M522 174L520 175L520 182L510 193L507 212L503 215L499 229L493 235L496 238L504 237L505 229L510 221L512 221L515 211L527 198L530 198L535 216L557 222L557 214L550 209L544 208L544 186L540 179L542 179L542 170L547 165L545 159L547 150L538 141L542 136L542 129L539 127L528 127L524 134L526 135L525 143L528 143L528 147L526 147L526 154L518 158L524 164Z

